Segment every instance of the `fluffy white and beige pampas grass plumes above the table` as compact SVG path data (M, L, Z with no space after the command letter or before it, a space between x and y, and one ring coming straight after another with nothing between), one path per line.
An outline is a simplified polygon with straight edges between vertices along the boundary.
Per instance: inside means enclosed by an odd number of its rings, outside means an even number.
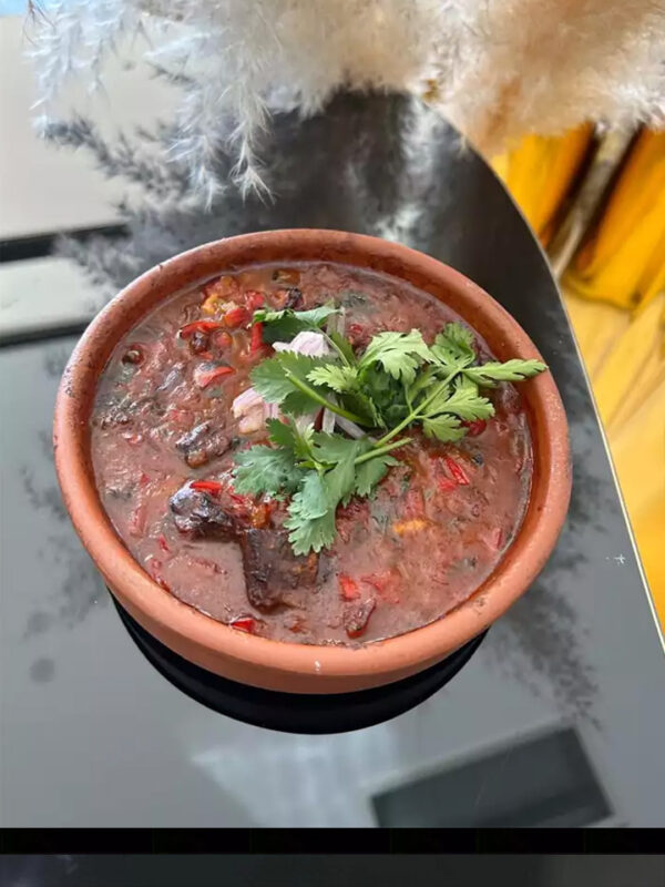
M342 86L422 95L485 155L584 120L665 123L658 0L59 0L33 22L47 134L70 78L94 89L121 38L147 37L183 90L172 155L208 203L221 150L260 190L270 110L309 114Z

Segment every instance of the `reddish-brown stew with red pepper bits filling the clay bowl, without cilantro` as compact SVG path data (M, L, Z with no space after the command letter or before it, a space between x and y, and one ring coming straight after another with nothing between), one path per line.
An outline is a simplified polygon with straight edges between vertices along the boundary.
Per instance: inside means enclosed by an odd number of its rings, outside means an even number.
M432 622L479 588L522 521L532 451L520 395L504 383L488 394L493 418L456 443L411 435L374 495L338 508L334 544L295 555L285 502L234 491L234 456L265 441L266 427L231 407L272 354L253 310L328 300L344 306L358 348L380 330L417 328L431 343L458 319L403 282L346 266L215 278L119 344L99 386L92 459L120 538L176 598L241 631L356 645Z

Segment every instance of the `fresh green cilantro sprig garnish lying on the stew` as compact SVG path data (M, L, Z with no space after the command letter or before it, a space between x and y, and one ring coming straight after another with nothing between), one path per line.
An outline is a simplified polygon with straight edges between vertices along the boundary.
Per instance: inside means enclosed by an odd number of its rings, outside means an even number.
M389 468L390 452L409 442L398 437L420 426L427 437L442 442L460 440L466 422L494 415L482 389L503 381L521 381L546 369L540 360L491 360L479 364L473 334L461 324L448 324L428 345L420 330L383 332L362 353L332 323L338 309L324 305L306 312L262 308L254 322L264 326L266 341L290 340L316 330L332 354L310 357L279 351L258 364L252 384L285 421L267 421L268 445L255 445L236 456L235 487L241 493L288 499L285 527L296 554L320 551L335 540L335 514L352 496L370 496ZM301 427L295 417L325 407L357 424L348 438Z

